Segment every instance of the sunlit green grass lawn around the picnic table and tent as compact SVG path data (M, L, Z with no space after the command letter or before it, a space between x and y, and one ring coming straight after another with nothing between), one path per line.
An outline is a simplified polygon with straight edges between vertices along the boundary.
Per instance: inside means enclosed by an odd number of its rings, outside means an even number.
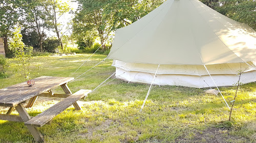
M95 54L76 73L74 71L91 54L33 57L32 66L40 65L38 76L77 77L105 58ZM8 72L0 77L0 88L21 82ZM72 92L94 89L115 72L112 60L106 60L88 73L69 83ZM6 75L5 75L6 76ZM109 81L112 79L109 79ZM51 125L39 128L47 142L256 142L256 84L242 85L232 121L229 110L216 95L196 88L154 85L140 112L149 85L114 79L109 84L80 100L83 111L69 107L53 119ZM234 88L221 88L226 99ZM61 92L57 88L54 92ZM59 99L38 102L27 109L30 116L49 108ZM241 106L241 107L240 107ZM240 108L239 108L240 107ZM7 108L0 107L1 113ZM13 114L17 115L14 111ZM0 120L0 142L33 142L23 123Z

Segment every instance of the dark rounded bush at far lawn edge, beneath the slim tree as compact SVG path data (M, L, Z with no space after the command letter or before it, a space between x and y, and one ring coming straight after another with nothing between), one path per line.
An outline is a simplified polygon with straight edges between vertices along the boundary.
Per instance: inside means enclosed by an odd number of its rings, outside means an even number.
M60 41L57 39L46 39L42 42L42 48L47 52L58 52L58 46L60 46Z

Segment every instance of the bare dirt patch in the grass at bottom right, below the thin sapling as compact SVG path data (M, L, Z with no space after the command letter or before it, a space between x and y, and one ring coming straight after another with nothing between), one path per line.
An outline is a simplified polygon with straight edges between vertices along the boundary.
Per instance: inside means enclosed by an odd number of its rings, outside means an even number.
M203 131L194 132L192 137L179 137L175 142L207 142L207 143L227 143L227 142L248 142L248 138L232 136L229 130L220 128L208 128Z

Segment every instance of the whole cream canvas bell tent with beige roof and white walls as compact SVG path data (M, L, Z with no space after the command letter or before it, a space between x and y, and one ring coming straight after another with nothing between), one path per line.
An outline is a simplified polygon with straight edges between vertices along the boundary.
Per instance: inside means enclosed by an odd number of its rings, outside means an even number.
M118 29L108 58L131 82L228 86L242 69L248 83L256 81L256 32L197 0L167 0Z

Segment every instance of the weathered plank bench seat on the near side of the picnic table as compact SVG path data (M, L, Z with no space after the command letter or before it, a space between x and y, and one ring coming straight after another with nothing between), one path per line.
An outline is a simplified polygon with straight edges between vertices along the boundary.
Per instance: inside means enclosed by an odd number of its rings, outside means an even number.
M72 94L71 96L61 100L57 104L53 105L49 109L37 115L35 118L29 120L25 125L32 125L36 127L41 127L45 125L48 121L52 120L59 113L67 109L74 102L81 99L83 96L89 94L91 90L79 90L78 92Z

